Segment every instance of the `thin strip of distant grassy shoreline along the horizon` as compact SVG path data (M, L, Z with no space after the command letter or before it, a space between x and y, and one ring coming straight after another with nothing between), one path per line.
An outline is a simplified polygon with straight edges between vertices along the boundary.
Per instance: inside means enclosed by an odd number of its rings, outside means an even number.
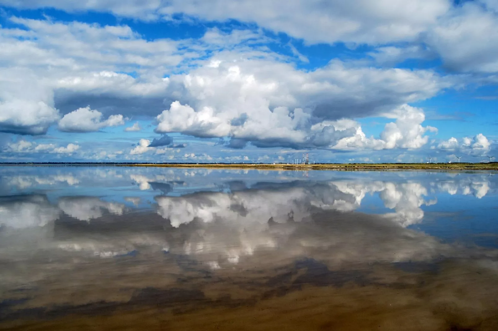
M0 163L0 166L154 166L174 168L235 168L265 170L498 170L498 162L492 163L355 163L355 164L208 164L208 163Z

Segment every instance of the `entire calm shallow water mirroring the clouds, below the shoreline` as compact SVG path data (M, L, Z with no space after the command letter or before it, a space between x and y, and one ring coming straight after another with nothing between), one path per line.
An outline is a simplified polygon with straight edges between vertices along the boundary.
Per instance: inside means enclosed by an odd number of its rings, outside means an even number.
M496 172L0 167L0 329L498 330Z

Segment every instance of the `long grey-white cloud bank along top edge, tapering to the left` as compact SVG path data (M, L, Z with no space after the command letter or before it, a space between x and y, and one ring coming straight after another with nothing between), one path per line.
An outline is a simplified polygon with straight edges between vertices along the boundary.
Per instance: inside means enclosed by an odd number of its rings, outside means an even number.
M275 32L285 32L309 43L389 43L414 40L419 33L432 27L437 18L450 8L446 0L418 0L403 2L386 0L371 3L365 0L316 1L308 3L291 0L282 6L277 1L216 0L198 3L193 0L173 0L167 3L139 4L126 0L119 3L58 2L55 0L4 0L4 4L18 8L56 7L67 11L93 9L112 12L118 16L144 20L171 18L175 13L202 20L226 21L237 19L255 22ZM306 17L306 19L303 19Z

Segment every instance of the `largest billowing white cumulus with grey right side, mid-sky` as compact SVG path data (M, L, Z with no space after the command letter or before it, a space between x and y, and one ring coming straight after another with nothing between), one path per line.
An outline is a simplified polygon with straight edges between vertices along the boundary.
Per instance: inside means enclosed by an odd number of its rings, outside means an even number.
M157 116L156 132L231 137L241 144L246 141L258 147L291 148L330 148L347 136L362 136L358 127L346 131L332 129L330 125L326 128L326 121L402 112L399 109L409 107L404 102L425 98L422 95L435 93L438 85L446 84L436 83L434 73L346 68L337 61L309 73L260 60L237 64L222 61L216 68L202 67L170 80L172 90L179 88L180 83L183 85L176 91L181 90L180 98L189 103L172 102L169 109ZM411 83L402 86L405 80ZM367 96L355 96L360 94ZM409 121L398 117L393 125ZM425 132L420 126L419 134L422 131ZM408 143L417 138L414 134L394 146L415 146Z

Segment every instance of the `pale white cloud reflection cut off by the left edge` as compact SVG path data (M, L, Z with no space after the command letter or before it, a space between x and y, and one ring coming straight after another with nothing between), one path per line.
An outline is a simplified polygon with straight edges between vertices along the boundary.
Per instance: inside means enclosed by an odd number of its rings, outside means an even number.
M44 226L59 218L59 210L43 196L0 202L0 226L22 229Z

